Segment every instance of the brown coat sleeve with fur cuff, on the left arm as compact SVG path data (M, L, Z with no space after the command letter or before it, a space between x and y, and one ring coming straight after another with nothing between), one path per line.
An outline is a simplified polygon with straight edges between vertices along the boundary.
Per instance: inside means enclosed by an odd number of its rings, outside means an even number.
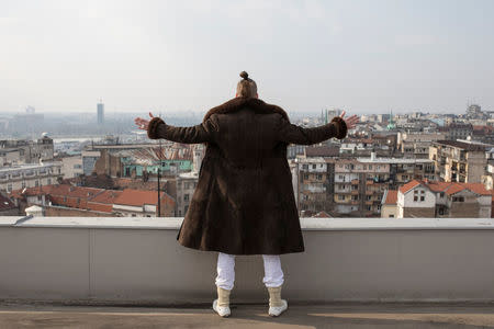
M160 117L154 117L149 122L147 136L150 139L165 138L177 143L198 144L214 141L216 132L217 126L213 116L191 127L171 126L166 124Z

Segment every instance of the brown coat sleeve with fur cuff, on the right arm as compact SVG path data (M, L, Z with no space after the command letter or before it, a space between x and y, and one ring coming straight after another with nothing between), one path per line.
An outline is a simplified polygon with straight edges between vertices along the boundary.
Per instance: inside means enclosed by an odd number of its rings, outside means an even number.
M341 117L335 116L332 122L326 125L314 128L304 128L281 118L281 126L278 132L281 141L311 145L333 137L338 139L345 138L347 136L347 124Z

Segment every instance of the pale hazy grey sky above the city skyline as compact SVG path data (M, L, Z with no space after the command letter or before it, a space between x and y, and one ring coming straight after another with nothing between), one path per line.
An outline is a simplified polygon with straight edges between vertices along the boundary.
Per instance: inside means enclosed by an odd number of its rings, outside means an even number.
M0 113L494 111L494 1L0 0ZM164 111L165 110L165 111Z

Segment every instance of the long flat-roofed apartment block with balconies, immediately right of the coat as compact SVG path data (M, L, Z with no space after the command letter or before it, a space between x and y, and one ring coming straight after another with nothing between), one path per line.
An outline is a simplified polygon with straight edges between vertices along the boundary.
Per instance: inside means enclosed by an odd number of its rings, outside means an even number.
M291 163L301 215L379 216L383 194L413 179L435 179L429 159L297 158Z

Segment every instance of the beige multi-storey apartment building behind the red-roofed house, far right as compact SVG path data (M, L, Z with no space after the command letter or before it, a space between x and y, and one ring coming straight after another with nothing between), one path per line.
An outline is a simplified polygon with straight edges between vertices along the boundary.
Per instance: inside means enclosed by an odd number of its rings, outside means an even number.
M479 183L485 174L487 158L484 145L438 140L429 148L438 179L445 182Z

